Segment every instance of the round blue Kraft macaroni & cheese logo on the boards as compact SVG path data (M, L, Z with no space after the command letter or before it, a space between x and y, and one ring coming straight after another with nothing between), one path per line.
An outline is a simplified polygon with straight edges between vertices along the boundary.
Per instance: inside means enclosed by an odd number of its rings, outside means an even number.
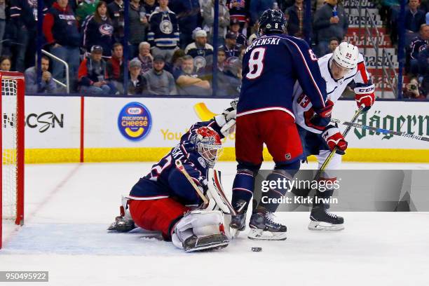
M139 102L125 105L118 116L118 128L123 137L132 141L143 139L149 134L152 118L149 109Z

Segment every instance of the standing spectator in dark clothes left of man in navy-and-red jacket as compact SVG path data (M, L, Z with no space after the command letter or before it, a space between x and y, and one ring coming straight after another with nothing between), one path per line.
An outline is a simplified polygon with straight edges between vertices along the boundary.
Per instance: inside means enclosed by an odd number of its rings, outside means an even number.
M43 1L41 2L43 5ZM42 7L43 14L48 8ZM17 48L15 56L15 70L24 72L25 67L34 64L34 54L36 53L36 32L37 32L37 1L33 0L11 0L10 8L11 20L8 25L13 25L17 31ZM32 55L31 62L25 63L25 55Z

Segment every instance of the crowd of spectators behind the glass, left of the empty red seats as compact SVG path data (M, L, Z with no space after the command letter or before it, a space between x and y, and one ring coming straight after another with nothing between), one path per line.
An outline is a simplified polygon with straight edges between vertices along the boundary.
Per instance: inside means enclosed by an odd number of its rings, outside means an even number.
M214 0L130 0L128 19L123 0L45 0L39 11L43 49L69 65L71 93L212 95L217 79L218 95L237 96L241 58L259 36L262 12L284 11L289 34L312 37L324 55L348 27L337 2L312 0L314 22L306 25L304 0L219 0L216 41ZM65 89L57 83L66 82L64 65L46 55L38 83L37 13L36 0L0 0L0 69L25 72L28 93L61 93Z

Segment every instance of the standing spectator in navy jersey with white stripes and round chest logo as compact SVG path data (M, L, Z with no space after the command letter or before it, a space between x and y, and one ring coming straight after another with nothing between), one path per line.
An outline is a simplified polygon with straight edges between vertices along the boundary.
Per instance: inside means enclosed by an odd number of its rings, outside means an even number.
M168 8L168 0L158 0L159 7L149 18L150 31L147 35L151 43L153 56L161 55L165 62L170 62L172 54L178 50L179 26L176 14Z

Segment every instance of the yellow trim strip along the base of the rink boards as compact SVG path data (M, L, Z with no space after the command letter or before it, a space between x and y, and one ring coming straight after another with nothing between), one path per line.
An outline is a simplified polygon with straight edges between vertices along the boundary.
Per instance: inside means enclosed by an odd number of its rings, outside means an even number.
M86 148L85 162L158 161L171 150L170 147L154 148ZM220 161L235 161L233 147L224 148ZM264 160L271 156L264 149ZM80 161L80 149L26 149L25 163L76 163ZM311 156L309 161L315 161ZM429 163L429 149L347 149L343 161Z

